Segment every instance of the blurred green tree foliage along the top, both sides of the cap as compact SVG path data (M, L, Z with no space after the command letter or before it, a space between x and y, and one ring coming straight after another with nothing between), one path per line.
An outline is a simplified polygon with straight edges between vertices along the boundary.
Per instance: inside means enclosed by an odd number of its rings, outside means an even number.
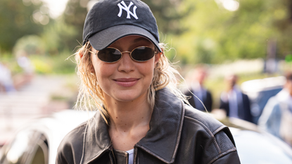
M87 4L92 1L69 0L61 18L44 26L34 18L48 13L40 0L1 0L1 51L11 51L20 37L31 34L38 37L25 37L27 41L40 40L44 53L73 51L82 42ZM184 64L265 58L270 40L276 42L279 58L292 53L292 1L229 0L239 2L237 11L228 11L220 1L144 0L157 20L160 41L176 49L168 53L171 60Z

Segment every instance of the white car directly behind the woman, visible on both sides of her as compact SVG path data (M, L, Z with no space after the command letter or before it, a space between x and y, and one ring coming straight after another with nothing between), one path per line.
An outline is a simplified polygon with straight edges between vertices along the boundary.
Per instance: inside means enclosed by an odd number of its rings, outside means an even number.
M41 118L21 128L0 153L1 164L53 164L61 140L74 127L94 113L62 111ZM292 150L283 141L250 122L238 119L220 120L234 136L239 158L243 164L292 164Z

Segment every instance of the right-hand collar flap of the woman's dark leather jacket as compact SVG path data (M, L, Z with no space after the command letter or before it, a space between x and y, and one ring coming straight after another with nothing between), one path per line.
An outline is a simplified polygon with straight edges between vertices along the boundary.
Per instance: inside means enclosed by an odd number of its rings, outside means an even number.
M177 154L184 118L184 103L168 89L156 92L150 130L136 146L165 163L172 163Z

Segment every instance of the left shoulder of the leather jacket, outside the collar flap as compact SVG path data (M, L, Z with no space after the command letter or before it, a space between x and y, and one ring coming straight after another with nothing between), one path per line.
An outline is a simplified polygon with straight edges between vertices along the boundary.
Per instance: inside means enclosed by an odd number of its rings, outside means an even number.
M81 160L86 128L87 122L84 122L63 138L58 147L56 163L76 163Z

